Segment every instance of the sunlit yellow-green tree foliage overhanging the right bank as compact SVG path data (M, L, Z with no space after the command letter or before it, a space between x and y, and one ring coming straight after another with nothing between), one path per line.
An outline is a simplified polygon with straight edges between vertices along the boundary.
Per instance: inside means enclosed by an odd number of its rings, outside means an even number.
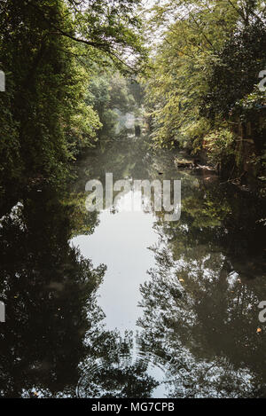
M239 139L250 138L254 146L247 153L263 157L265 92L258 84L266 68L264 2L165 2L153 7L151 27L162 37L146 88L155 144L193 153L204 148L211 161L224 162L234 160ZM251 137L239 137L247 122L253 123Z

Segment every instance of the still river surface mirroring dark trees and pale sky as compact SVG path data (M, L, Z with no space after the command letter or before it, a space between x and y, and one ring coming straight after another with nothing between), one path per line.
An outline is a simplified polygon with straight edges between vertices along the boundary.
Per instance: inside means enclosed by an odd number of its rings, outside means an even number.
M109 146L68 192L35 186L1 219L1 396L266 396L262 200L142 139ZM106 172L181 179L180 220L89 213Z

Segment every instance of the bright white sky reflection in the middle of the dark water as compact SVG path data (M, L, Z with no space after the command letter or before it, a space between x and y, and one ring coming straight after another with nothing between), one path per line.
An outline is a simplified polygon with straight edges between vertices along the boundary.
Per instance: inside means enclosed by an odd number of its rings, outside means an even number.
M148 279L146 271L153 267L153 252L148 247L158 239L153 231L153 215L125 212L131 202L131 193L124 195L116 206L118 212L108 210L99 215L100 224L93 235L73 239L82 255L91 258L97 266L107 266L103 285L99 288L99 306L106 314L106 329L131 330L141 310L140 284ZM135 192L134 198L139 197ZM129 210L129 209L128 209Z

